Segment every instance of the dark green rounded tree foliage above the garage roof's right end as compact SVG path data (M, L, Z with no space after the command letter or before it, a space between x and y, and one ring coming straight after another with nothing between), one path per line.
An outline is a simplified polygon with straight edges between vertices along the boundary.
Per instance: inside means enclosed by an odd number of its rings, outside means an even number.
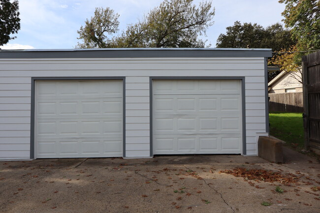
M295 44L289 30L285 30L277 23L267 28L258 24L236 21L233 26L226 28L225 34L220 34L217 47L222 48L271 48L279 51Z

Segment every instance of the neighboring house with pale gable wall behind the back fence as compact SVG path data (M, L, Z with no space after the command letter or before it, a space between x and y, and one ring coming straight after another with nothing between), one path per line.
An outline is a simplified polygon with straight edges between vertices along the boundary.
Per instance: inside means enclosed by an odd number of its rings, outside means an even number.
M282 71L268 83L268 93L302 92L301 79L300 72Z

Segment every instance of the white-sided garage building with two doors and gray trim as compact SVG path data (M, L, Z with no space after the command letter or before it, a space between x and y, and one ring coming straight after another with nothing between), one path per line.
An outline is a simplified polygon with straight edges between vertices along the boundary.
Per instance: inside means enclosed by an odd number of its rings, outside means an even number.
M0 160L257 155L271 49L0 51Z

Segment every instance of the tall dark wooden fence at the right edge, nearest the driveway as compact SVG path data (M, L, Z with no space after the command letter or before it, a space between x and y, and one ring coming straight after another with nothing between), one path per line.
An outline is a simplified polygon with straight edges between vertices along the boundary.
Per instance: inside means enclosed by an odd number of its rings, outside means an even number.
M320 51L302 58L305 145L320 153Z

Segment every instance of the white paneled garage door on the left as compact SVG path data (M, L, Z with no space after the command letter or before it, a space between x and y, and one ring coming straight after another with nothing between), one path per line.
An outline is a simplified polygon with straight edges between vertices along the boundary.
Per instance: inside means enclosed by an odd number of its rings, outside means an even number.
M36 81L35 156L123 156L121 80Z

